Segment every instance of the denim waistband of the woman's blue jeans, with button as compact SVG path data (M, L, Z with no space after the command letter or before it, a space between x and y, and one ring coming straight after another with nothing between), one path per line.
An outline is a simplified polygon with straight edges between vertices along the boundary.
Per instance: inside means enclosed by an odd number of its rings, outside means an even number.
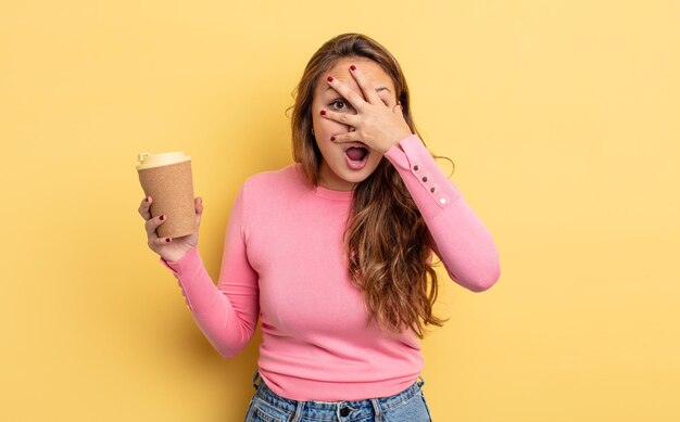
M387 412L391 408L406 401L413 395L420 393L420 387L425 385L425 380L421 375L419 380L406 387L406 389L396 393L389 397L376 397L367 398L364 400L342 400L342 401L318 401L307 400L299 401L281 397L274 393L267 384L260 376L260 371L255 370L253 375L253 388L255 388L255 395L260 399L266 401L270 406L290 412L298 418L317 420L317 421L336 421L342 420L337 417L347 417L352 413L352 419L360 419L363 417L375 415L379 417L382 412ZM257 382L260 381L260 382ZM376 420L380 420L376 418Z

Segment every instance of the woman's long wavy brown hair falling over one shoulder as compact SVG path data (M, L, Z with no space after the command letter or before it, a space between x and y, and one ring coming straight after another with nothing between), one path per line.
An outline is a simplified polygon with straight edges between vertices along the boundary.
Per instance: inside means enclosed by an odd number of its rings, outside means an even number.
M312 101L319 75L342 57L367 57L392 78L406 123L418 135L411 115L406 79L385 47L362 34L341 34L326 41L310 59L293 91L292 151L310 183L319 181L322 153L312 133ZM432 315L438 295L425 220L387 158L354 190L344 233L349 271L364 293L369 320L380 329L400 333L410 328L423 338L425 325L441 327L448 319Z

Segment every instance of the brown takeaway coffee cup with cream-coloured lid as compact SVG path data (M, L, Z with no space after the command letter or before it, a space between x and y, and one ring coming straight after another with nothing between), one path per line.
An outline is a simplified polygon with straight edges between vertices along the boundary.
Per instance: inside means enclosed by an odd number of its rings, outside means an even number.
M141 188L153 199L151 216L163 214L166 217L165 222L156 228L159 238L180 238L196 232L191 157L184 151L176 151L141 153L137 158Z

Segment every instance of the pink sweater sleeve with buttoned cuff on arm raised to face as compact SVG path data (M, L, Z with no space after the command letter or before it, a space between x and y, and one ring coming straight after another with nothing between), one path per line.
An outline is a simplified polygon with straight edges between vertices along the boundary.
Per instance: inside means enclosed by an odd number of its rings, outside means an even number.
M429 229L430 246L449 277L473 292L501 276L491 233L435 162L417 135L402 139L385 156L399 171Z

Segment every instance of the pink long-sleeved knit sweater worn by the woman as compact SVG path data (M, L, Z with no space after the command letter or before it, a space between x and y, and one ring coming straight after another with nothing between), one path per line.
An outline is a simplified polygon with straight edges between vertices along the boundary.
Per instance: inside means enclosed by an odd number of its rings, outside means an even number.
M385 157L395 166L449 276L474 292L500 277L496 246L459 190L416 135ZM435 188L435 189L432 189ZM396 394L424 366L411 331L367 325L342 235L352 191L308 188L298 164L251 176L227 223L217 285L198 246L161 263L178 279L201 331L224 357L240 353L257 320L257 366L267 385L294 400L358 400Z

